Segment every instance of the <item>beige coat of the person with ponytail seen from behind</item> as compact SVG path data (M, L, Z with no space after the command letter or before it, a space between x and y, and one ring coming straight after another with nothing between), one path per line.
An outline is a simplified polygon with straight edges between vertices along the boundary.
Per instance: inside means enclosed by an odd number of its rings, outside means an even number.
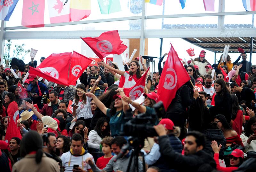
M43 154L42 160L36 164L36 154L28 154L12 167L12 172L59 172L58 163Z

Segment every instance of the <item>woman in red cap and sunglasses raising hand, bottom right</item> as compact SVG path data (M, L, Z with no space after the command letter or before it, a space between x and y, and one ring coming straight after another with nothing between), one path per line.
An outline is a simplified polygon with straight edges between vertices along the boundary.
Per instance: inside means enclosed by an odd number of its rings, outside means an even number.
M221 144L218 146L215 140L212 141L212 150L214 152L214 160L216 162L216 169L223 172L232 172L236 170L244 160L244 152L240 149L235 149L229 156L230 167L220 167L219 163L219 152Z

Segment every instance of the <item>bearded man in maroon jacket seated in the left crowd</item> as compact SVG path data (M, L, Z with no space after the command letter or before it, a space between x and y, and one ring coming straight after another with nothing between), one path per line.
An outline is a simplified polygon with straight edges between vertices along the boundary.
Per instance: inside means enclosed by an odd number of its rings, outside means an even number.
M42 115L52 116L52 113L59 108L60 100L58 99L58 93L56 91L51 91L49 94L50 103L44 105L44 107L39 111Z

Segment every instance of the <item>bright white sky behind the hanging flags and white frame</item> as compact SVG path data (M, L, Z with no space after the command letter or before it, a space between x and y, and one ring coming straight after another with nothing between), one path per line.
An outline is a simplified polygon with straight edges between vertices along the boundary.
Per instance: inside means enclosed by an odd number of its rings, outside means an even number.
M50 0L52 1L52 0ZM63 1L63 0L61 0ZM132 1L132 0L131 0ZM107 18L117 18L117 17L130 17L139 16L140 14L133 14L130 12L130 1L120 0L122 12L116 12L108 15L100 14L100 9L98 2L96 0L91 1L92 11L91 15L84 20L95 20L95 19L107 19ZM219 1L215 0L215 12L218 12ZM239 12L245 11L242 0L226 0L225 1L225 12ZM154 4L147 3L147 15L162 15L163 5L157 6ZM203 0L187 0L185 8L181 9L179 0L165 0L164 14L192 14L192 13L209 13L204 11ZM10 18L10 21L6 22L6 27L20 26L21 25L21 14L22 14L22 0L20 0ZM117 21L117 22L107 22L107 23L95 23L95 24L82 24L73 26L59 26L59 27L41 27L41 28L31 28L22 29L17 31L48 31L48 30L129 30L129 22L140 22L138 20L133 21ZM48 3L45 0L45 12L44 12L44 23L50 23L49 13L48 13ZM162 19L148 19L146 21L146 29L161 29ZM190 17L190 18L172 18L164 19L164 24L217 24L218 17ZM252 24L252 15L241 15L241 16L225 16L225 24ZM83 54L81 50L82 44L84 42L81 39L40 39L40 40L12 40L13 44L25 44L25 49L34 48L38 52L36 54L35 60L40 61L41 57L48 57L52 53L62 53L62 52L72 52L77 51ZM164 38L163 39L163 51L169 52L170 43L172 43L174 49L177 51L181 59L189 60L190 56L186 52L190 47L195 49L195 54L198 57L202 48L197 47L191 43L184 41L181 38ZM139 50L139 47L137 48ZM148 55L159 57L160 50L160 39L150 38L148 39ZM216 54L216 59L219 60L221 53ZM231 61L235 61L239 56L238 53L229 53ZM249 54L248 54L249 56ZM194 58L193 57L193 58ZM214 63L214 52L206 50L205 57L211 64ZM30 61L29 54L25 57L24 62L28 63ZM249 60L249 58L248 58ZM158 59L155 60L157 71ZM252 63L256 64L256 55L252 55Z

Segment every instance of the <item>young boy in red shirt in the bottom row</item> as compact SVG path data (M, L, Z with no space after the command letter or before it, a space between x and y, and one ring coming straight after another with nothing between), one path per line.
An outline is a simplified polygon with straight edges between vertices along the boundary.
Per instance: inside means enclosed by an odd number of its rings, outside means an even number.
M96 162L96 166L100 169L103 169L108 164L108 161L113 157L111 154L111 141L112 137L105 137L102 139L100 144L102 145L102 152L104 153L104 156L98 158Z

